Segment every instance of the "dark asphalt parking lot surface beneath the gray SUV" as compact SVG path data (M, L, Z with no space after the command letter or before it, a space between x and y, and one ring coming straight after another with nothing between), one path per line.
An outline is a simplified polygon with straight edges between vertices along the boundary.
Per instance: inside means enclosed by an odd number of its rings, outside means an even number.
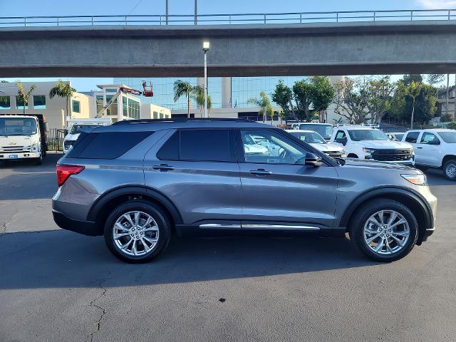
M346 239L182 239L149 264L53 223L55 164L0 166L0 341L455 341L456 183L380 264Z

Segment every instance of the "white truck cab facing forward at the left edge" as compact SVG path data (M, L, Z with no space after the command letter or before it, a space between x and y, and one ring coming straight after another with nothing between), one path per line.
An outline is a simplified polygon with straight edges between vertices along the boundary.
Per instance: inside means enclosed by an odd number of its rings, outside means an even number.
M34 160L41 165L47 151L43 115L0 115L0 160Z

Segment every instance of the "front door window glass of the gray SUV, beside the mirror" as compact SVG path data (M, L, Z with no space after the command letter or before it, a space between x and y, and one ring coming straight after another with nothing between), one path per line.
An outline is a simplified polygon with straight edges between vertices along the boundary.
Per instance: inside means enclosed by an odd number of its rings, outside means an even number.
M246 162L263 164L302 164L306 150L293 140L271 130L242 130Z

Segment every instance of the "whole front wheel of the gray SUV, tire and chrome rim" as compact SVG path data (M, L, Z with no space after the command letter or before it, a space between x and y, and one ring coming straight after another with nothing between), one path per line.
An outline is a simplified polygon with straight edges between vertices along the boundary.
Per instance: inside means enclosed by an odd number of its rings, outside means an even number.
M350 239L371 259L395 261L415 246L418 222L404 204L375 199L357 209L351 221Z

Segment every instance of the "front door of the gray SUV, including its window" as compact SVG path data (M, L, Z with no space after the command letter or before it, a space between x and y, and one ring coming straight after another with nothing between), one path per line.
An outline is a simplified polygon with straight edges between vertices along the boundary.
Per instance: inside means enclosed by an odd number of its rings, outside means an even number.
M261 152L249 143L267 150ZM243 231L333 226L338 184L334 167L304 165L306 148L278 130L239 131L238 151Z

